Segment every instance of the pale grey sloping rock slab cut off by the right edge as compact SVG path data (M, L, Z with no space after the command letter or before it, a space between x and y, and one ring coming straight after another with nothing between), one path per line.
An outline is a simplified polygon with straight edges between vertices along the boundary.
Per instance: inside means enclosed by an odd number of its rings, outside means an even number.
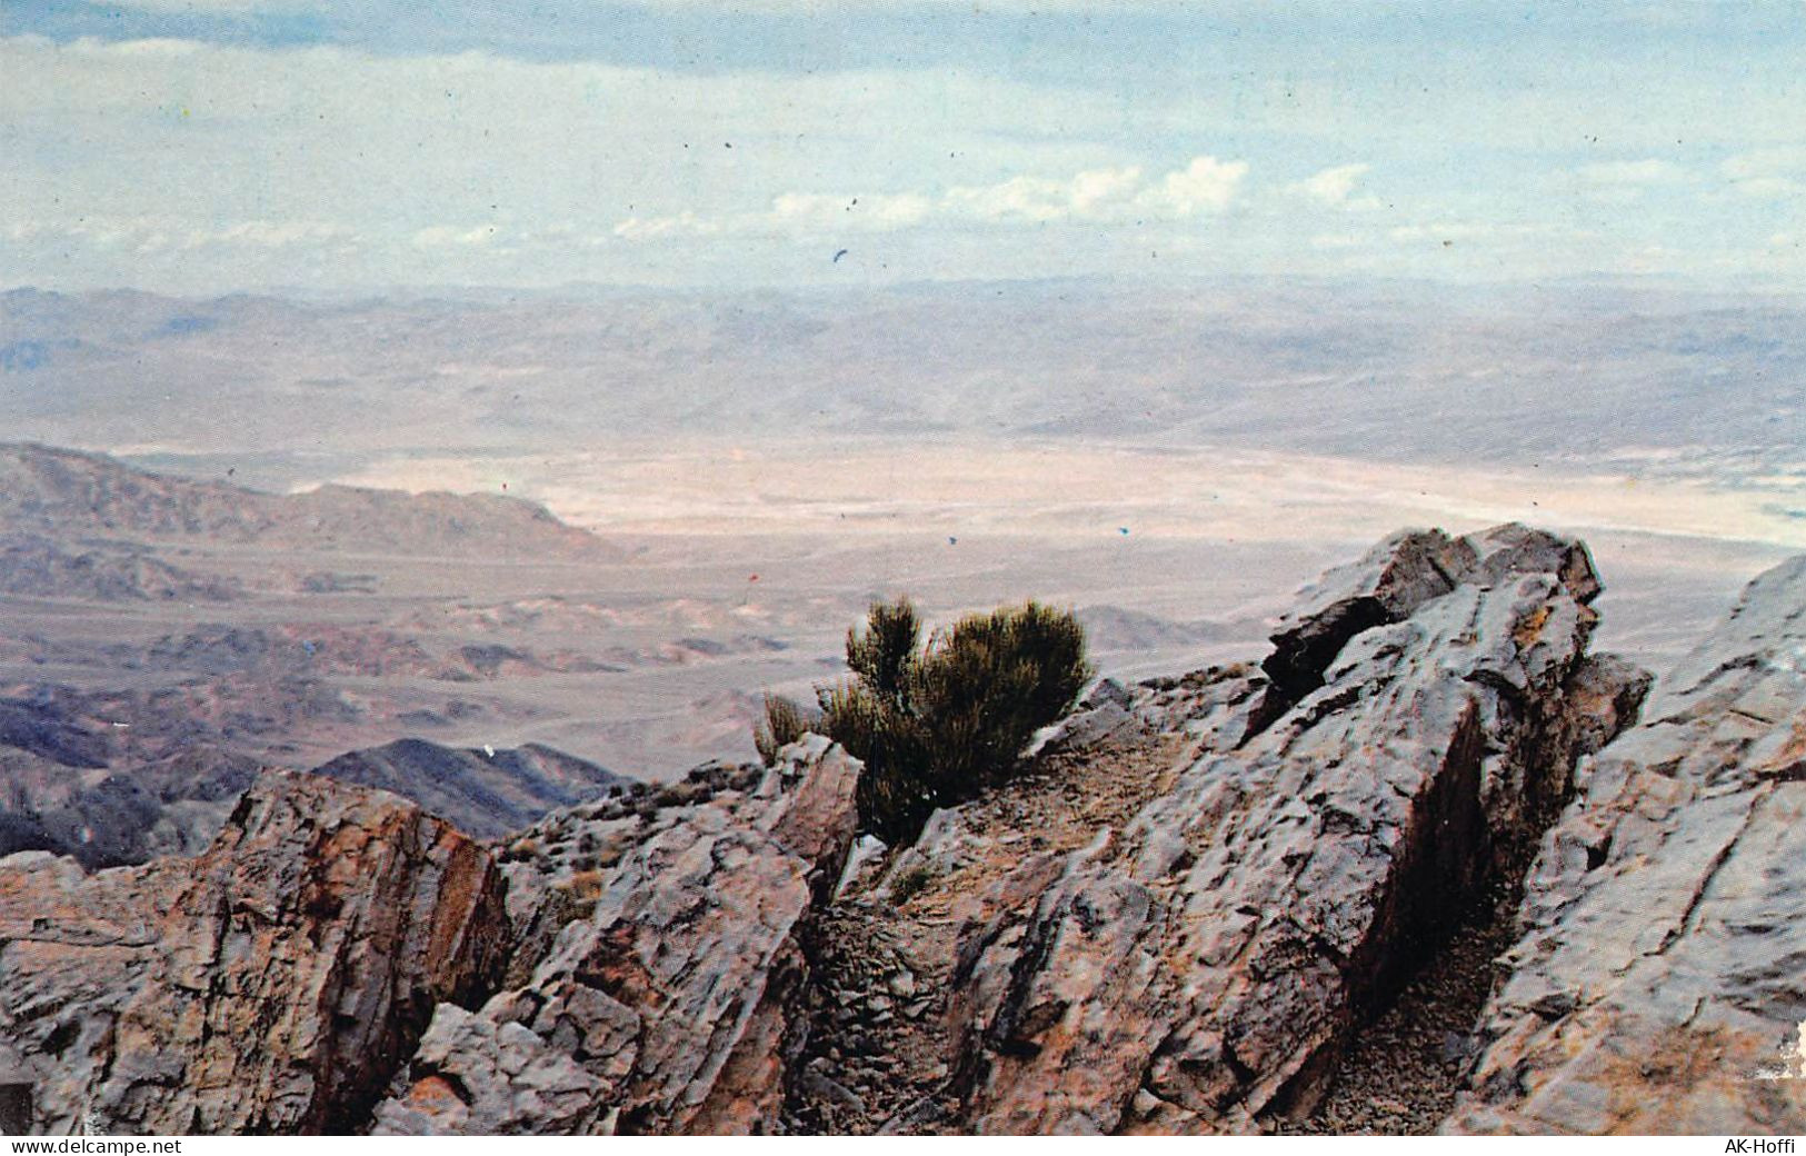
M1582 764L1445 1131L1806 1131L1806 558Z

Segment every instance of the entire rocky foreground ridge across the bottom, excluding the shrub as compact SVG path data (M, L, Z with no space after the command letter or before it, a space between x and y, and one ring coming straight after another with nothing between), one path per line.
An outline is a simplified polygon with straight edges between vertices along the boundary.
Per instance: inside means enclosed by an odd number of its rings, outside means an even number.
M903 849L805 737L489 845L264 775L195 860L0 860L4 1123L1806 1129L1806 560L1642 724L1598 592L1394 535Z

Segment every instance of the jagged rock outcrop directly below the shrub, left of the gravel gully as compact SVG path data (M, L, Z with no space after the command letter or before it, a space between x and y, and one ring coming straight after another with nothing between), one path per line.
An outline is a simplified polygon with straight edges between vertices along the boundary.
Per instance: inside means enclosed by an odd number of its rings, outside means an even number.
M439 1010L376 1131L777 1131L802 939L852 842L858 773L809 735L773 768L694 777L675 806L616 798L513 840L509 986ZM583 867L542 840L587 845Z

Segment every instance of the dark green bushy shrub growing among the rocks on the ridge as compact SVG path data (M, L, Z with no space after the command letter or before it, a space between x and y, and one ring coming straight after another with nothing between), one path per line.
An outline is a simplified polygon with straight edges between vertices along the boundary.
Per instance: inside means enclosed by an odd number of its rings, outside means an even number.
M865 762L860 822L892 844L1013 773L1029 737L1091 677L1084 629L1035 601L919 639L908 600L872 603L865 629L847 632L852 679L816 690L818 728ZM769 699L766 713L773 733Z

